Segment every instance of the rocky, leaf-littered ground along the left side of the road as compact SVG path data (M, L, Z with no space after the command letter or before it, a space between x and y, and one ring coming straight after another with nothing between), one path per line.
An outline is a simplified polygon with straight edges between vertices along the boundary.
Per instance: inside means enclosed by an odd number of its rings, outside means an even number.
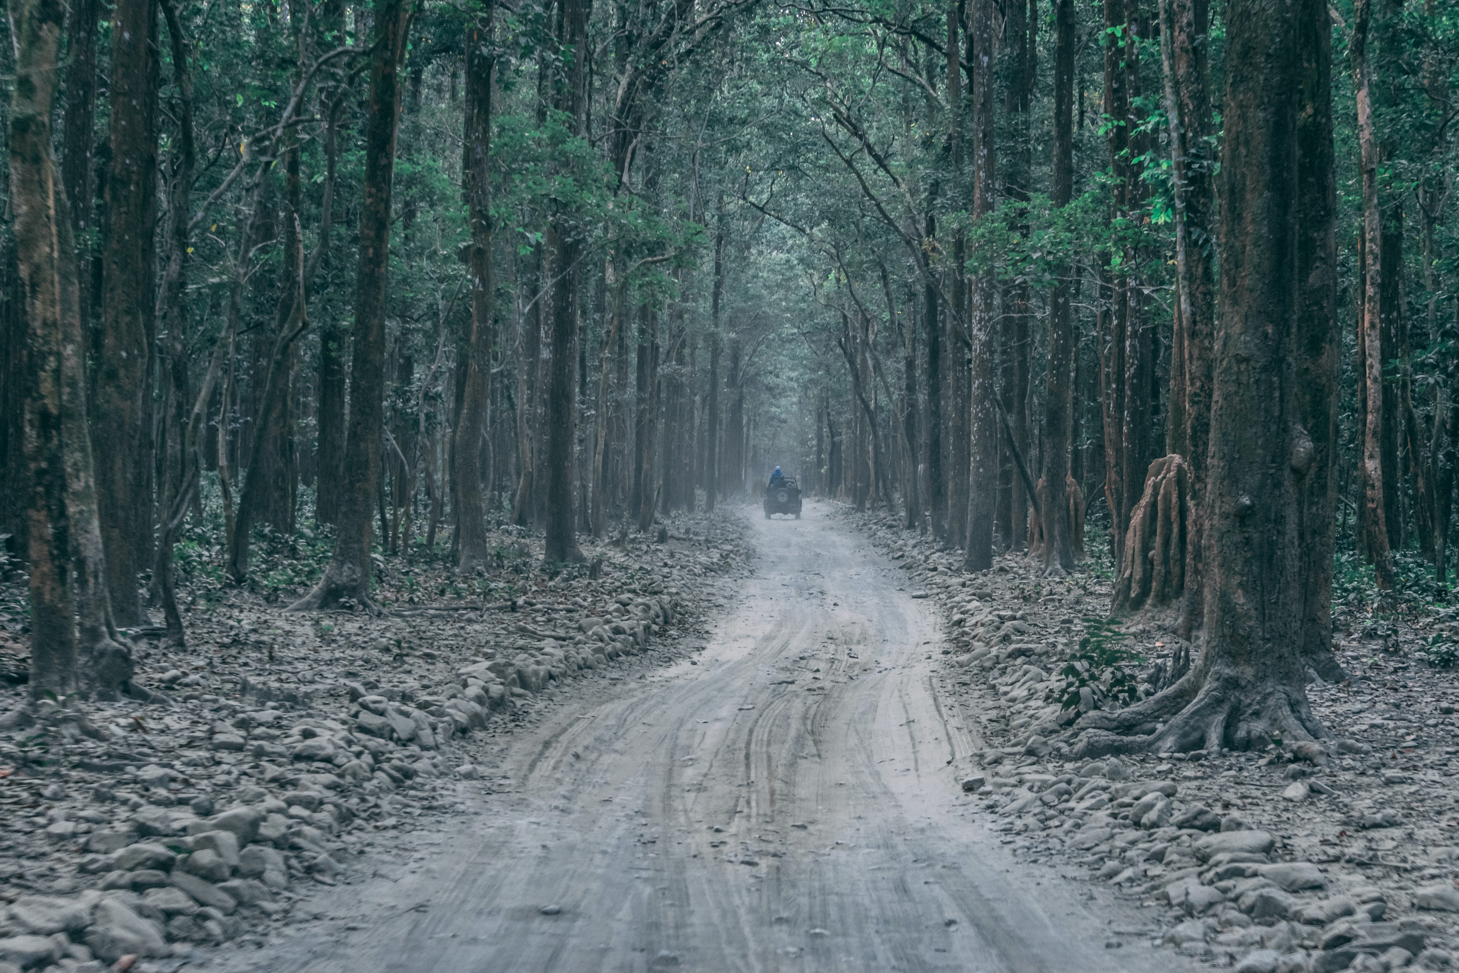
M540 541L496 540L540 563ZM0 973L127 955L174 970L260 942L391 831L452 814L463 786L505 786L483 780L498 738L575 680L686 654L747 563L741 522L721 516L587 553L598 579L528 572L484 611L290 616L241 597L191 620L181 658L139 652L139 680L172 702L26 709L23 687L0 693Z

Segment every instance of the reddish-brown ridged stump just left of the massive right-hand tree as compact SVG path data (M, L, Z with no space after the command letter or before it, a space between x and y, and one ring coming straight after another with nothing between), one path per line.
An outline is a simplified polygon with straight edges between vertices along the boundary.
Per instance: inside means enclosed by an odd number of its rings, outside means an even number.
M1186 586L1191 467L1177 454L1150 464L1139 503L1129 515L1113 611L1176 604Z

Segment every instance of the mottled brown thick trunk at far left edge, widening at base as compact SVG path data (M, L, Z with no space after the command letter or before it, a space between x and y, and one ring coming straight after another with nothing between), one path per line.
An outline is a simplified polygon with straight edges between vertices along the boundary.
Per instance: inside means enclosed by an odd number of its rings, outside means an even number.
M66 191L51 155L51 111L64 9L12 7L10 204L25 296L25 452L31 474L31 697L128 689L131 654L108 605L86 422L85 343ZM147 295L150 298L150 293ZM136 600L136 586L131 589Z

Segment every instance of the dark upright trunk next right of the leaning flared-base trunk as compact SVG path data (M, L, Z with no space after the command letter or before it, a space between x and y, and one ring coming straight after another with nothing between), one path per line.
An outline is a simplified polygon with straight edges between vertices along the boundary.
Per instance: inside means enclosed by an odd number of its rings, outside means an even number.
M486 540L486 505L481 500L481 439L487 427L487 404L492 382L492 344L495 341L492 282L492 219L490 163L492 142L492 15L489 4L476 23L467 29L465 44L465 131L463 136L465 163L464 181L471 225L471 333L467 347L465 381L463 388L455 442L451 445L455 484L457 567L474 570L489 551Z

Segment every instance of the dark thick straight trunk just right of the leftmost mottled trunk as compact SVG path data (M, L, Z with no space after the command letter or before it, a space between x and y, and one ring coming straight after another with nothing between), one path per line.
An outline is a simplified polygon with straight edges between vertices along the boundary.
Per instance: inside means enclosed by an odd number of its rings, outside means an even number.
M123 627L146 616L152 556L152 356L156 338L158 0L118 0L111 25L111 160L102 349L92 436L107 588Z

